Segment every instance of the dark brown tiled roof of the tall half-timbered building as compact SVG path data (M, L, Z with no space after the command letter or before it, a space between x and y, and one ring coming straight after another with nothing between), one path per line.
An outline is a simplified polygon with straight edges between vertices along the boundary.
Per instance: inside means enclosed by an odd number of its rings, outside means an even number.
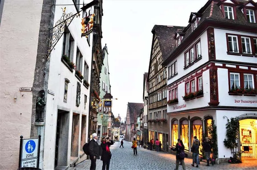
M152 28L152 33L156 34L160 50L162 52L162 60L166 59L170 52L172 51L176 40L174 40L174 35L178 31L184 30L183 26L166 26L166 25L154 25Z

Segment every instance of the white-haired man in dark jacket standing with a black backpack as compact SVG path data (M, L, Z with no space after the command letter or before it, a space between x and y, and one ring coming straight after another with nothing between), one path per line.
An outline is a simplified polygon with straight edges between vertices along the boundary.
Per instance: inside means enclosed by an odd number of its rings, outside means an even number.
M91 160L90 170L95 170L96 168L96 160L100 159L99 152L100 147L97 143L98 136L96 133L92 134L93 139L89 142L89 158Z

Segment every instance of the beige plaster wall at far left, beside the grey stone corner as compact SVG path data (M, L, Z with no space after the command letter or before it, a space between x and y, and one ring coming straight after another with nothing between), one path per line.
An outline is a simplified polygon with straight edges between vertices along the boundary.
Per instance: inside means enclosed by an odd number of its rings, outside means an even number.
M19 88L33 86L42 4L37 0L4 1L0 27L0 169L18 168L20 136L30 138L32 92L20 92Z

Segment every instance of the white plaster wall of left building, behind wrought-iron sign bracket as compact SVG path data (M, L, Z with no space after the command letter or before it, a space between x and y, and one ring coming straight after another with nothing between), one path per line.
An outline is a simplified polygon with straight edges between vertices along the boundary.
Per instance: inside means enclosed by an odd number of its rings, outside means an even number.
M81 0L81 3L83 1ZM85 3L87 3L85 1ZM60 4L73 4L71 0L57 0L57 5ZM80 5L82 7L82 5ZM54 23L57 22L61 18L63 13L61 8L65 6L56 6L55 8L55 18ZM88 9L89 10L89 9ZM87 11L88 11L87 10ZM92 10L93 11L93 8ZM77 13L74 6L66 6L66 13L72 12ZM73 53L73 62L76 64L76 52L77 47L79 48L81 54L83 55L83 61L86 61L89 66L89 80L91 76L91 57L92 57L92 43L93 43L93 34L91 33L90 39L90 47L87 43L87 39L85 37L81 38L81 18L75 17L71 24L69 25L69 31L71 32L72 37L74 38L74 53ZM48 80L48 89L55 92L55 95L47 94L47 105L46 105L46 124L45 124L45 146L44 150L44 169L54 169L54 157L55 157L55 138L56 138L56 122L57 122L57 107L65 107L70 111L69 113L69 138L68 138L68 155L67 155L67 166L70 163L71 156L71 135L72 135L72 119L73 112L80 114L79 118L79 151L80 151L80 143L81 143L81 116L87 115L87 125L88 125L88 108L89 108L89 89L83 86L83 82L81 83L75 77L75 70L71 72L62 62L62 45L63 45L63 36L59 40L59 42L54 47L50 56L50 71L49 71L49 80ZM84 73L84 63L83 70ZM64 83L65 78L70 80L68 84L68 94L67 94L67 103L63 102L64 96ZM79 107L76 106L76 94L77 94L77 82L81 84L81 98ZM87 95L87 103L86 109L84 109L84 95ZM88 129L88 128L87 128ZM86 130L86 140L87 140L87 132ZM87 142L87 141L86 141ZM61 156L61 155L59 155Z

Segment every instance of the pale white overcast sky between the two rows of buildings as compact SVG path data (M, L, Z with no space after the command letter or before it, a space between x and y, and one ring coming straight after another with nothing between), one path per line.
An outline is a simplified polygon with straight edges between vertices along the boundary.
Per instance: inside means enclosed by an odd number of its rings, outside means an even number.
M187 26L207 0L103 0L102 47L107 43L112 112L124 121L127 104L143 103L154 25Z

